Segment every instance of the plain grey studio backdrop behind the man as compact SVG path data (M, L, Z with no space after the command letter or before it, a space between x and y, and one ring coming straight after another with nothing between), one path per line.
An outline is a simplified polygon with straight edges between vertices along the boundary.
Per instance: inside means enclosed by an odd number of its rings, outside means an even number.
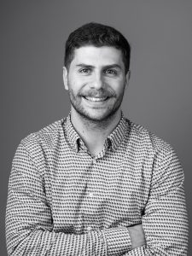
M12 0L0 4L1 255L6 255L4 214L15 149L32 131L67 115L64 42L69 32L90 21L115 26L131 42L131 82L123 109L132 121L176 149L185 172L191 227L192 1Z

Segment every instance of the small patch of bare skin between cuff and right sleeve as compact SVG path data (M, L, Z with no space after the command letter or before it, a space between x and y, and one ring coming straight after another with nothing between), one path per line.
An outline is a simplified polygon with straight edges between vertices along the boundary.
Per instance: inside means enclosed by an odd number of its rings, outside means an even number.
M131 236L131 247L132 249L136 247L142 247L146 244L145 234L142 224L137 224L131 227L128 227L130 236Z

